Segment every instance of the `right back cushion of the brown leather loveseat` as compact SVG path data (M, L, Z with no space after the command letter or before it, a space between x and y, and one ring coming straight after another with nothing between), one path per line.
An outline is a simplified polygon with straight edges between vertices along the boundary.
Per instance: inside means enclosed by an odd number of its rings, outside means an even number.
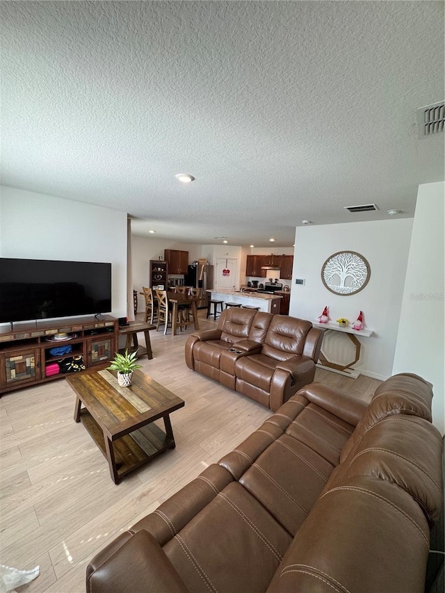
M302 355L305 339L311 327L310 321L286 315L273 316L261 354L276 360L287 360L295 355Z

